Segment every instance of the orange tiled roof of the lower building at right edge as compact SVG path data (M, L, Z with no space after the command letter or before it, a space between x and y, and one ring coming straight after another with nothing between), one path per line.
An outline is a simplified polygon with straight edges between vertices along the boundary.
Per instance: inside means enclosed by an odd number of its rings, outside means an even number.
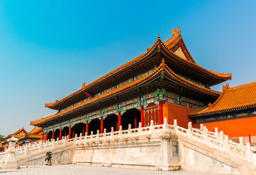
M256 107L256 82L233 88L229 88L228 84L223 86L223 91L216 102L191 112L189 116L209 116L246 107Z

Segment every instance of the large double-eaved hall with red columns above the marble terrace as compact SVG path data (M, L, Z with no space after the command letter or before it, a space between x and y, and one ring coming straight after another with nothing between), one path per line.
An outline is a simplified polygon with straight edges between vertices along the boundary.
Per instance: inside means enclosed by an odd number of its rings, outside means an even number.
M187 127L189 113L216 102L221 93L210 87L231 79L231 73L206 70L197 65L186 47L180 29L162 42L158 36L152 47L128 63L81 89L45 107L56 114L31 121L43 128L43 139L125 130L163 124ZM196 118L198 119L198 118ZM195 121L196 122L196 121Z

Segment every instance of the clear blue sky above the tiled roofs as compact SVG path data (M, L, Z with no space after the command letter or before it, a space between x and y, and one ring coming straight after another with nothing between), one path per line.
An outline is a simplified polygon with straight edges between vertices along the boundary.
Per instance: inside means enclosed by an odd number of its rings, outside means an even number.
M160 34L182 37L198 65L256 77L256 1L0 1L0 134L54 114L69 95L139 56ZM214 87L221 91L221 86Z

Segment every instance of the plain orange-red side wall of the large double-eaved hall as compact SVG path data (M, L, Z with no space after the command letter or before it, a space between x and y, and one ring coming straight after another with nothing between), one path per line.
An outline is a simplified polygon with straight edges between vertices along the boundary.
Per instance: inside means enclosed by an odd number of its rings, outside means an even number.
M191 119L188 118L188 114L194 109L175 105L172 103L163 104L163 118L167 118L168 124L173 125L173 120L177 119L179 126L188 128L188 122Z

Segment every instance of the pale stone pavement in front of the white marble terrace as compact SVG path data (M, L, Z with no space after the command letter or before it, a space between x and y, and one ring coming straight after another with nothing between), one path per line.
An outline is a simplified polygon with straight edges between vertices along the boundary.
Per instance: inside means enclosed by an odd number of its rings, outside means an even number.
M44 174L44 175L72 175L72 174L90 174L90 175L115 175L115 174L195 174L202 175L206 173L188 172L188 171L152 171L141 169L125 169L116 167L99 167L88 165L53 165L53 166L21 166L20 169L0 169L0 175L20 175L20 174Z

